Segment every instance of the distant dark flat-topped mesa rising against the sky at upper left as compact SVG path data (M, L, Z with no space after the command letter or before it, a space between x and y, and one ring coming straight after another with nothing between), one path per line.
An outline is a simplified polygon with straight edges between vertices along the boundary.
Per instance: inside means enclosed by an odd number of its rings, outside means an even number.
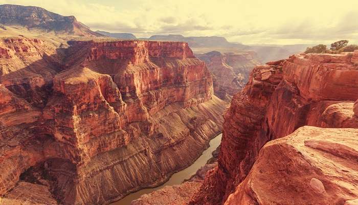
M4 4L0 5L0 13L0 23L3 25L20 25L57 34L102 36L78 22L75 16L62 16L40 7Z

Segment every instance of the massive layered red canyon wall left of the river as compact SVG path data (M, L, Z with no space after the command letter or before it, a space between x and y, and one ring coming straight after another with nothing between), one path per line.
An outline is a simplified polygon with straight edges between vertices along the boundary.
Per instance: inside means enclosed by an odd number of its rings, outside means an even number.
M187 167L225 103L186 43L0 41L5 204L105 204Z

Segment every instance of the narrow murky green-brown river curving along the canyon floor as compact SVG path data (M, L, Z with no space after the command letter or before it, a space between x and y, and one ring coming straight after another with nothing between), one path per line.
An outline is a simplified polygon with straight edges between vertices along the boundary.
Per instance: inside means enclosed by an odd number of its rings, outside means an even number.
M149 194L155 190L162 189L165 186L172 186L178 185L182 183L185 179L189 179L192 175L196 173L196 171L204 166L206 162L213 156L212 152L220 145L222 134L217 135L215 138L210 140L209 148L203 152L203 154L196 160L194 163L189 166L188 168L173 174L170 179L164 183L164 185L150 188L150 189L142 189L138 192L129 194L128 196L124 197L123 199L113 202L110 205L130 205L132 200L135 200L142 196L143 194Z

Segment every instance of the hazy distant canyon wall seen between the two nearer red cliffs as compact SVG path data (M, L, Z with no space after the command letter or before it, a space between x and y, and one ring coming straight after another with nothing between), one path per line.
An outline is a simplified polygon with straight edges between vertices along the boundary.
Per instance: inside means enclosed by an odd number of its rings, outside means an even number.
M211 51L196 56L205 61L213 74L214 94L226 101L244 88L250 72L260 64L254 52L222 54Z

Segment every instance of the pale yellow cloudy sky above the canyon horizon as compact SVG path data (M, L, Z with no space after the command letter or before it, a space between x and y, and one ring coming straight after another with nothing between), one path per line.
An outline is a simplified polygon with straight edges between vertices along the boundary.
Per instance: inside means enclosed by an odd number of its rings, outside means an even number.
M74 15L92 30L224 36L243 44L358 44L358 0L0 0Z

